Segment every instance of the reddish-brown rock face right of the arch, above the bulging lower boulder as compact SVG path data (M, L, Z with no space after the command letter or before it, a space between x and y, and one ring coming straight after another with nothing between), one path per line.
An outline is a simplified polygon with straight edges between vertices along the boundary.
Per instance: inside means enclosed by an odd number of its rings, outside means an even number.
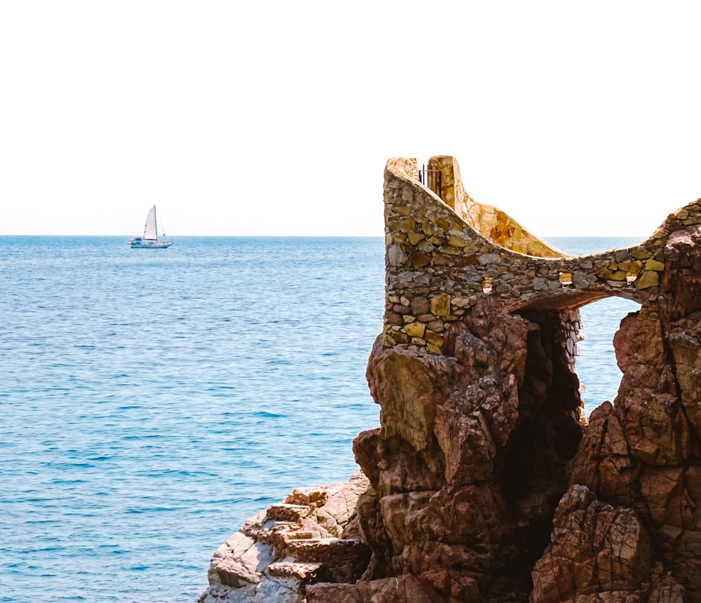
M637 513L641 529L651 541L653 555L647 565L656 564L664 570L665 588L672 595L662 599L655 598L657 591L645 595L645 576L619 578L628 592L639 592L643 601L698 602L701 236L697 226L669 237L665 262L666 276L658 296L625 318L615 335L623 372L618 397L615 405L603 405L592 413L569 481L573 487L590 488L599 500L611 503L620 513ZM556 530L552 548L538 562L534 576L543 573L542 562L547 558L562 560L558 548ZM599 548L598 554L601 552ZM646 563L639 561L639 565ZM547 595L547 589L570 580L573 572L558 567L559 573L550 572L543 588L536 588L533 600L561 600ZM611 588L600 581L598 588L592 584L583 583L578 592L607 592ZM657 583L653 580L653 584ZM621 595L612 600L626 599Z

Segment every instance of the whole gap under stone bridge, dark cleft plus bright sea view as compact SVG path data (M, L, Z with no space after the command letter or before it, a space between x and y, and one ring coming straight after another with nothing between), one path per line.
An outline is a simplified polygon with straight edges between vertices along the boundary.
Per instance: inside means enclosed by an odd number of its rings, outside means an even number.
M605 400L613 401L620 385L613 335L620 320L639 304L618 297L594 301L577 309L529 307L517 312L529 328L518 392L524 411L500 475L505 501L518 526L522 550L518 564L524 576L550 543L554 512L568 486L567 464L583 437L585 417ZM584 340L586 359L580 367L583 325L590 339ZM585 399L591 405L585 405Z

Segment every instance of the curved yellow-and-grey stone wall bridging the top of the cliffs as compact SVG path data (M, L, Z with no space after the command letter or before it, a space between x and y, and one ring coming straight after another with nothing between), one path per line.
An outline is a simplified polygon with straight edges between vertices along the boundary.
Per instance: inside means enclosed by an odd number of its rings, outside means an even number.
M504 212L472 200L454 158L433 157L429 165L442 172L444 198L418 181L415 159L386 165L387 347L450 354L451 325L485 297L510 312L576 310L611 296L643 303L658 295L669 235L701 224L699 200L639 245L568 255Z

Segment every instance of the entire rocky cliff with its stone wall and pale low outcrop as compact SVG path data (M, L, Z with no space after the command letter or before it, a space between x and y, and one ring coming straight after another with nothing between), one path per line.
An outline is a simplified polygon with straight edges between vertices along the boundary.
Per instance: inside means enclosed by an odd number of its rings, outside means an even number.
M473 201L454 158L429 169L385 172L364 475L249 520L200 600L701 603L701 200L572 257ZM587 424L578 308L611 295L640 309Z

